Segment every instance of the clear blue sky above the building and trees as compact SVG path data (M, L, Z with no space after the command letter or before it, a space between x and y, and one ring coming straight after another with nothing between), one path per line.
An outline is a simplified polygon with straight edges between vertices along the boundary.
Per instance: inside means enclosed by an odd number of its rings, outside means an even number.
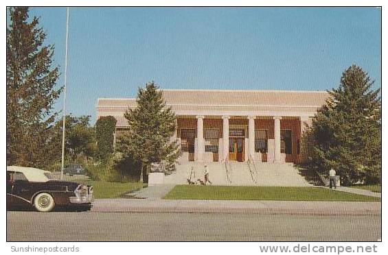
M67 112L161 88L327 90L358 64L381 87L378 8L71 8ZM66 8L41 16L65 62ZM56 110L62 110L62 96Z

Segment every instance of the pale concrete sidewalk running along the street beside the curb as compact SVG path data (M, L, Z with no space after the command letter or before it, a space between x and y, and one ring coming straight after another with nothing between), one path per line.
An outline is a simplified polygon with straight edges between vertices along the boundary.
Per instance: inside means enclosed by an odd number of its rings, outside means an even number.
M381 215L380 202L96 199L94 212Z

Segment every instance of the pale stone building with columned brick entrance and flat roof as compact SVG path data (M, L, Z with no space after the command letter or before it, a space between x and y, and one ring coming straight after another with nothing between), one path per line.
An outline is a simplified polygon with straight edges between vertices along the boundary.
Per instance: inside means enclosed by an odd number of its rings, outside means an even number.
M300 162L301 134L325 91L164 89L177 117L181 162ZM99 98L97 118L117 119L115 138L128 128L124 112L135 98Z

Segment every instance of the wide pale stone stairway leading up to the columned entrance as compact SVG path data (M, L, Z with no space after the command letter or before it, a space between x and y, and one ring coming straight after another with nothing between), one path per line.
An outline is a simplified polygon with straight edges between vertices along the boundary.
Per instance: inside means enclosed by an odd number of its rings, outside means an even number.
M163 183L187 184L192 167L196 173L195 180L204 180L203 165L200 162L187 162L177 165L176 171L166 175ZM230 162L230 167L229 178L231 182L227 178L225 164L219 162L207 163L209 180L212 184L223 186L311 186L299 174L293 163L255 163L255 167L251 165L252 174L247 162Z

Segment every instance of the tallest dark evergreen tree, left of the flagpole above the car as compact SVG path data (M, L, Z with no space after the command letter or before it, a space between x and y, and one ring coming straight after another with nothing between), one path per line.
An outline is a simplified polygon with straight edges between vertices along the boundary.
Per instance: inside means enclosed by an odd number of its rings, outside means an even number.
M45 167L58 156L52 132L56 113L54 89L58 66L53 66L54 47L38 18L29 19L28 8L9 9L7 25L7 164Z

